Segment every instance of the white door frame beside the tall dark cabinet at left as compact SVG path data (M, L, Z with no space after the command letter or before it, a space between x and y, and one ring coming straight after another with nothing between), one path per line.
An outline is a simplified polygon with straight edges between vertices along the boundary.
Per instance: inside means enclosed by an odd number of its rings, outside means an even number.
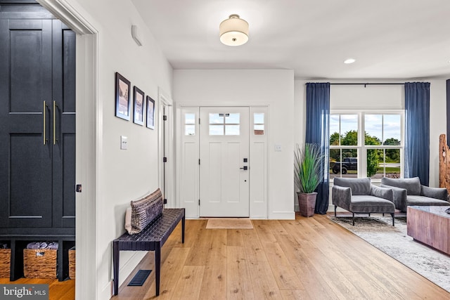
M98 296L97 287L97 206L98 160L103 152L101 131L103 103L98 97L98 30L83 17L89 15L62 0L37 0L41 6L77 33L76 182L84 185L76 193L77 244L76 299ZM81 12L81 13L80 13ZM94 252L94 255L92 253Z

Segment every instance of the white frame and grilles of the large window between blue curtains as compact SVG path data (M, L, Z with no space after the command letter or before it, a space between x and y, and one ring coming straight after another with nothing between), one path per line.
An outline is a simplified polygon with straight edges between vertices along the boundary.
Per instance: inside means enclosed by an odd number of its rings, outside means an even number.
M404 110L330 110L330 115L357 115L358 116L358 138L357 145L330 145L332 149L356 149L358 155L358 176L357 178L367 177L367 150L369 149L399 149L400 150L400 177L404 178ZM365 119L366 115L400 115L400 145L365 145ZM384 118L382 128L384 130ZM341 128L341 124L339 124ZM329 136L332 133L329 133ZM342 134L342 133L341 133ZM384 136L383 136L384 139ZM384 141L382 141L384 143ZM341 158L342 159L342 158ZM330 169L330 163L328 162L328 169ZM342 174L336 174L336 177L342 177ZM383 175L384 176L384 175ZM379 183L380 178L371 178L374 183Z

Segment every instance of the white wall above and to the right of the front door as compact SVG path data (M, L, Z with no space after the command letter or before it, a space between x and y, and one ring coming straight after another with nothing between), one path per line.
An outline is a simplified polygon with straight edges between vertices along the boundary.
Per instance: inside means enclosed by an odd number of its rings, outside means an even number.
M294 219L293 71L174 70L173 93L177 107L269 105L269 219Z

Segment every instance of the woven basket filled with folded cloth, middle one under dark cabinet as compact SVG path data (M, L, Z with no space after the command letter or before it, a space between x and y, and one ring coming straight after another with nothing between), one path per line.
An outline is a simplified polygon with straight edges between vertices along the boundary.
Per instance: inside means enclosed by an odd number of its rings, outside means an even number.
M23 249L23 275L25 278L55 279L56 254L54 249Z

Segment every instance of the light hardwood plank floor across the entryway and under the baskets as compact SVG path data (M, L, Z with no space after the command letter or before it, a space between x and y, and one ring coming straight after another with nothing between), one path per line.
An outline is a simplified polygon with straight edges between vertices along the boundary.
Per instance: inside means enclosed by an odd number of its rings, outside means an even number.
M254 229L243 230L206 223L186 220L185 243L181 226L165 243L158 299L450 299L327 216L252 220ZM139 269L154 269L153 252ZM153 272L143 287L127 286L133 276L113 300L157 299ZM74 299L75 280L11 283L49 283L50 299Z

